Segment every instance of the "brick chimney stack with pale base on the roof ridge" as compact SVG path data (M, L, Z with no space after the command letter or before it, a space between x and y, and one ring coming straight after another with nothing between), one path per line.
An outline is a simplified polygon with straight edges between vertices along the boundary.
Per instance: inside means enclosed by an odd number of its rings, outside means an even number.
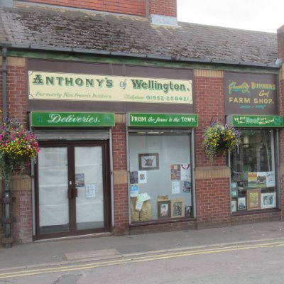
M151 23L178 26L177 0L146 0L146 13Z

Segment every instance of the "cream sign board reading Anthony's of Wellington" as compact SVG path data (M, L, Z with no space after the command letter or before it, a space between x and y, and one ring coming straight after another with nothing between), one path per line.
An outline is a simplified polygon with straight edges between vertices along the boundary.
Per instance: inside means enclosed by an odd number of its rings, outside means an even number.
M28 72L28 98L192 104L192 80Z

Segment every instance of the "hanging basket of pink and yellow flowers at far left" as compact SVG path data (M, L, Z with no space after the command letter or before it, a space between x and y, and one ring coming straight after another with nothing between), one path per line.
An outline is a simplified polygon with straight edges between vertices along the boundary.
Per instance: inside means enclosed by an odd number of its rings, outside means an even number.
M13 170L24 168L39 152L38 141L17 120L3 119L0 129L0 173L8 186Z

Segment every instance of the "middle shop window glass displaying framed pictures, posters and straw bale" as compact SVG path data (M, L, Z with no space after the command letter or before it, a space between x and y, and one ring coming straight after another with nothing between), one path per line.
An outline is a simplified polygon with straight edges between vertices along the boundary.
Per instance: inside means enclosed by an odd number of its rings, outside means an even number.
M129 133L131 223L192 216L190 133Z

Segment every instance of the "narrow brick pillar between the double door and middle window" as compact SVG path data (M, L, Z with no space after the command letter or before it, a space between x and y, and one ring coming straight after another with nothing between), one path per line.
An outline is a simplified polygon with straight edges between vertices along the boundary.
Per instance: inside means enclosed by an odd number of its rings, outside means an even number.
M125 114L116 114L112 129L112 155L114 161L114 233L129 232L129 196L126 167Z

